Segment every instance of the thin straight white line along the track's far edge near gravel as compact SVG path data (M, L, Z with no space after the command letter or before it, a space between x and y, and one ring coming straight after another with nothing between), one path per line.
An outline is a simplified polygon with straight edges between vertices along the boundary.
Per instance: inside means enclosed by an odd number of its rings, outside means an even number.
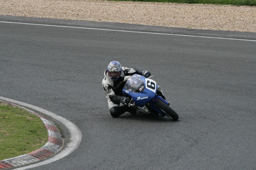
M208 36L182 35L182 34L167 34L167 33L151 33L151 32L140 32L140 31L126 31L126 30L102 29L102 28L71 27L71 26L59 26L59 25L47 25L47 24L31 24L31 23L21 23L21 22L6 22L6 21L0 21L0 22L2 22L2 23L10 23L10 24L25 24L25 25L48 26L48 27L80 28L80 29L93 29L93 30L103 30L103 31L118 31L118 32L131 32L131 33L143 33L143 34L158 34L158 35L174 35L174 36L187 36L187 37L199 37L199 38L215 38L215 39L225 39L225 40L239 40L239 41L253 41L253 42L256 42L256 40L236 39L236 38L221 38L221 37L208 37Z

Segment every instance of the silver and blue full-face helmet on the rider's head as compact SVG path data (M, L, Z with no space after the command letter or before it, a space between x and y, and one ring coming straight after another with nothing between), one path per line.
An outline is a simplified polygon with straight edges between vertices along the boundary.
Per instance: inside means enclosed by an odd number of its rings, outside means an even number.
M122 73L122 66L117 61L112 61L108 65L108 76L111 80L116 81L120 78Z

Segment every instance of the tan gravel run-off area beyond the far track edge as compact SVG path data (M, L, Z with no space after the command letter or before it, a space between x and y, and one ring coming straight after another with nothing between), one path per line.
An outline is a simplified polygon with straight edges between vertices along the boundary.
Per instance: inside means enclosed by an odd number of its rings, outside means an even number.
M256 7L100 0L0 0L0 15L256 32Z

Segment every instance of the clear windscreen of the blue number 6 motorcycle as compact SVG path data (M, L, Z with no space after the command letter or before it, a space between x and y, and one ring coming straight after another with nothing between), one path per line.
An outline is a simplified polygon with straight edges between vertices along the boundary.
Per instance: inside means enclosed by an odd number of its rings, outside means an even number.
M124 89L132 92L142 92L145 89L145 85L139 77L131 76L126 81Z

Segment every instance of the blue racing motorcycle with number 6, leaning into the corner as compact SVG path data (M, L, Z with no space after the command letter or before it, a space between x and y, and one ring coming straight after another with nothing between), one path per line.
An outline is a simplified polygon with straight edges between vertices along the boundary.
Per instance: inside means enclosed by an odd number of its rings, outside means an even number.
M169 106L170 103L166 101L163 89L150 77L146 78L139 74L132 75L126 81L123 93L126 97L131 98L128 105L136 108L139 112L155 117L167 116L172 120L179 119L179 115Z

